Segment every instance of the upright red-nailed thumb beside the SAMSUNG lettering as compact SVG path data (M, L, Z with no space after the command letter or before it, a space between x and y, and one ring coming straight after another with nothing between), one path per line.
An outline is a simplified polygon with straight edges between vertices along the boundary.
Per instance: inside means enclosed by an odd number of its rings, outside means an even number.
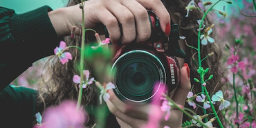
M174 95L172 96L174 102L183 106L185 104L188 92L191 88L189 74L190 68L188 67L188 64L185 63L184 66L181 68L181 83L174 92Z

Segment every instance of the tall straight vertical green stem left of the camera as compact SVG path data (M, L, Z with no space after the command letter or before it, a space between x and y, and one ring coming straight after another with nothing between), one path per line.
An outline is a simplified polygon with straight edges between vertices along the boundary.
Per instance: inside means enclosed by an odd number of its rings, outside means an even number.
M81 0L81 6L82 6L82 48L81 48L81 55L80 55L80 83L83 82L83 68L84 68L84 41L85 41L85 30L84 30L84 2ZM80 84L80 89L78 93L78 99L77 99L77 109L80 109L82 100L82 84Z

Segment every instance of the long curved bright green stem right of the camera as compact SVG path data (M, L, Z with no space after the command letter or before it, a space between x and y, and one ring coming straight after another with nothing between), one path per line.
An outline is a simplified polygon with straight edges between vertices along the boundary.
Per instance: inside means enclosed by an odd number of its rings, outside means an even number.
M221 0L219 0L219 1L221 1ZM202 19L201 19L201 23L199 24L199 34L198 34L198 36L197 36L197 52L198 52L197 55L198 55L198 61L199 61L199 68L202 66L202 64L201 64L201 62L202 62L202 60L201 60L201 48L200 48L200 46L201 46L201 42L200 42L201 30L200 30L200 29L201 29L201 26L202 26L202 24L203 24L203 20L205 19L205 17L206 17L206 15L208 14L208 12L210 12L210 10L212 10L212 8L213 8L214 6L216 6L216 4L219 3L219 1L217 1L216 3L214 3L214 4L203 14L203 17L202 17ZM204 86L203 86L204 81L203 81L203 75L202 75L202 73L200 74L200 78L201 78L201 90L202 90L202 92L205 92L206 95L208 95L208 100L210 100L210 96L209 96L209 94L208 94L208 91L207 91L206 88L204 89ZM211 103L211 101L210 101L210 103ZM212 107L212 110L214 111L214 113L216 113L216 111L215 111L215 109L214 109L212 103L211 103L211 107ZM203 113L206 114L206 110L205 110L205 109L203 109ZM222 126L221 122L219 121L218 115L217 115L217 114L214 114L214 115L216 116L216 118L217 118L217 120L218 120L218 122L219 122L219 125ZM205 118L205 122L207 122L207 118ZM223 126L222 126L222 127L223 127Z

